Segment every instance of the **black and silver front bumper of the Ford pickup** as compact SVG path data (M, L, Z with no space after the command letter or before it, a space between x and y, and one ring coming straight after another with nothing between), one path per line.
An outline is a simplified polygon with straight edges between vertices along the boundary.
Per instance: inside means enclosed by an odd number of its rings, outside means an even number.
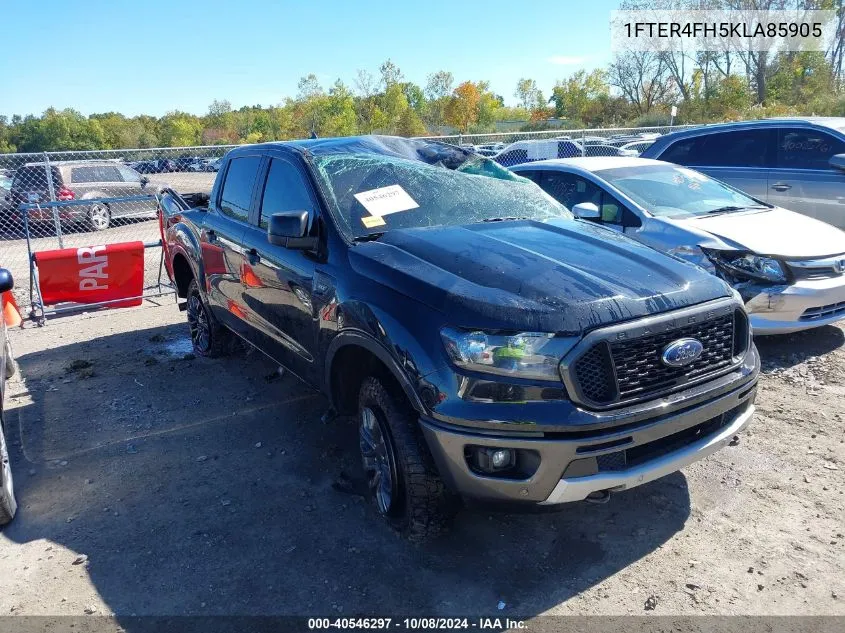
M685 402L684 392L673 394L646 419L632 415L626 422L620 410L609 428L503 435L421 419L423 434L441 477L466 499L516 506L579 501L653 481L726 444L754 413L759 357L753 346L748 356L751 371L738 376L729 390L703 401ZM695 391L700 394L700 389ZM536 470L510 479L479 474L465 456L472 446L530 453L539 458Z

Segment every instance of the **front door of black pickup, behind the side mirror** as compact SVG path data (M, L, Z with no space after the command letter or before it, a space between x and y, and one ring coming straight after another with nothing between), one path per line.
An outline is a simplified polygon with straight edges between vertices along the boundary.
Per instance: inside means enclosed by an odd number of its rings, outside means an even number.
M311 253L267 240L267 219L274 213L309 211L311 229L317 230L319 204L298 157L266 159L256 207L243 240L241 280L249 314L248 340L313 383L317 325L312 288L316 261Z

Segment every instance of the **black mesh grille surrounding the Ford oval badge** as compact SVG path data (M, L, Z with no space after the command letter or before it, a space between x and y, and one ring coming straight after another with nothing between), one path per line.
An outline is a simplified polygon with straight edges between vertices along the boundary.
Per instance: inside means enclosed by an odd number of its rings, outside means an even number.
M689 365L669 367L663 351L681 338L700 341L704 351ZM746 317L737 310L638 338L600 341L574 362L571 376L587 404L643 400L729 368L745 352L747 338Z

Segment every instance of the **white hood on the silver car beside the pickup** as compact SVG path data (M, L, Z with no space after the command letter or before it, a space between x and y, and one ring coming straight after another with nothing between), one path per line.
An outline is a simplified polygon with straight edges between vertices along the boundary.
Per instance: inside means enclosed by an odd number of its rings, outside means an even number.
M672 223L679 227L695 227L736 248L760 255L815 258L845 253L845 232L779 207L674 218Z

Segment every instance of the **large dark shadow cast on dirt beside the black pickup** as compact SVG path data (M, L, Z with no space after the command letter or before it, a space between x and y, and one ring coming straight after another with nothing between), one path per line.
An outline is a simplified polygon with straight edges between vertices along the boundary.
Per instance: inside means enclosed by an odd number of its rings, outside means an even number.
M10 416L20 510L5 536L87 555L63 571L86 573L118 619L530 616L646 556L689 517L676 473L607 505L465 511L446 537L410 545L333 486L341 472L360 477L356 432L321 421L322 397L257 353L193 358L184 334L167 326L19 358L31 404ZM43 593L62 595L49 583Z

